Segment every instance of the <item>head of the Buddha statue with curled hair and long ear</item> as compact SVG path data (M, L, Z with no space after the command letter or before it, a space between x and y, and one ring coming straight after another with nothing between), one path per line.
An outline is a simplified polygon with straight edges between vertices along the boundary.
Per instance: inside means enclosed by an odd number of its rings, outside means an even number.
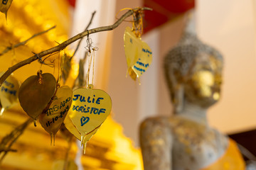
M186 35L164 60L174 113L183 111L186 102L208 108L220 98L222 55L196 35Z

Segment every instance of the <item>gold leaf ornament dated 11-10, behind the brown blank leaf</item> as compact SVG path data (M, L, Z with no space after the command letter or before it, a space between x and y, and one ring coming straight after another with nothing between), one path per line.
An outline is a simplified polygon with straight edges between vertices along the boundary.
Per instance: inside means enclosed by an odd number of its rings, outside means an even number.
M39 115L42 127L55 136L63 123L72 103L72 89L69 86L61 86L53 98L48 110Z

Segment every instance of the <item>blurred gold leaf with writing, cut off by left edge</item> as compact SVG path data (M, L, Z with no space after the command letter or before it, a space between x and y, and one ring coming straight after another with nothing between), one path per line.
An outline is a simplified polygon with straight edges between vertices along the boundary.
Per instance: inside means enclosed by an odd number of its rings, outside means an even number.
M1 72L0 77L3 74L4 72ZM0 87L0 101L2 108L9 108L18 101L19 86L20 84L15 77L7 77Z

